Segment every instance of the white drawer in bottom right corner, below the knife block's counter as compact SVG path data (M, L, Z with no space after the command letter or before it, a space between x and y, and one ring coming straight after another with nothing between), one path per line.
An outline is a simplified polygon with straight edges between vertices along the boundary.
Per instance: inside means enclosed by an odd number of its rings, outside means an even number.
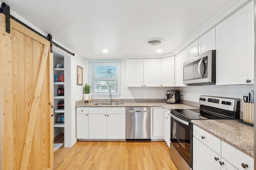
M236 149L235 147L229 145L228 143L222 141L222 157L228 162L233 164L238 169L244 169L243 164L247 164L248 168L246 170L254 170L254 160L248 154Z

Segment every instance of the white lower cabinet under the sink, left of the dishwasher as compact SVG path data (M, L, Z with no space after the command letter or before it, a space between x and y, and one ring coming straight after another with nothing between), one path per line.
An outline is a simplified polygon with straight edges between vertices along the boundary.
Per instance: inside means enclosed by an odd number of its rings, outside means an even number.
M126 139L125 107L77 107L77 139Z

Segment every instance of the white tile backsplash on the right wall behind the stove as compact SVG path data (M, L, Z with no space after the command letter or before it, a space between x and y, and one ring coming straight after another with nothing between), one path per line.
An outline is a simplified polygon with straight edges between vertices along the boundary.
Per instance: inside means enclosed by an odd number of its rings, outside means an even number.
M188 86L179 88L181 94L184 92L183 100L198 102L200 95L219 96L240 99L240 111L243 111L243 96L247 96L254 90L250 85L226 85L226 86Z

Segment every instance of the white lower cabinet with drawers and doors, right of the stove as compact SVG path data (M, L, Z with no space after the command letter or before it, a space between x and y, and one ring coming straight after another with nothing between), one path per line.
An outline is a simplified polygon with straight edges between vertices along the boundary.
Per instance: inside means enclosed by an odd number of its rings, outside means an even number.
M193 170L206 169L254 170L254 159L193 125Z

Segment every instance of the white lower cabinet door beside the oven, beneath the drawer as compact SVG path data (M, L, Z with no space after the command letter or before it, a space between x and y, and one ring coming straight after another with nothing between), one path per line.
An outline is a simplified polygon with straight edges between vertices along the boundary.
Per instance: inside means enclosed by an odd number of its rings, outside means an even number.
M193 137L193 170L220 170L219 161L219 154Z

